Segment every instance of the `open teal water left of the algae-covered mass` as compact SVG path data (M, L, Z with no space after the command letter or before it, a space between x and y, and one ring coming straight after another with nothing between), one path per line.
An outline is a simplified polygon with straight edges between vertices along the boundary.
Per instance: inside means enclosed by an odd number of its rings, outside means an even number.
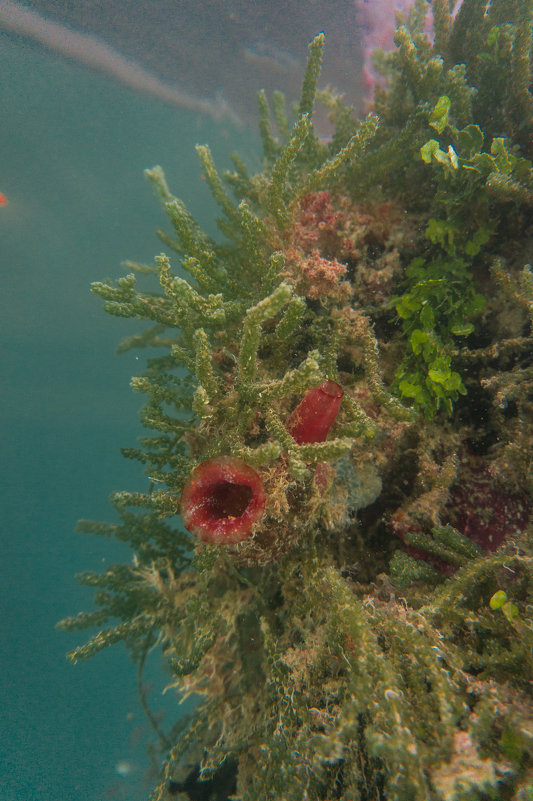
M104 314L89 284L163 249L145 167L162 164L214 233L194 145L209 143L224 167L234 149L252 158L255 140L5 34L0 109L9 199L0 208L0 798L136 801L147 796L153 736L135 669L122 647L73 667L65 652L84 635L55 630L91 608L75 573L130 558L117 543L76 534L76 521L112 519L111 491L145 488L142 467L119 450L140 433L142 398L128 385L145 354L115 355L135 324ZM150 671L149 700L170 724L176 698L162 696L155 656Z

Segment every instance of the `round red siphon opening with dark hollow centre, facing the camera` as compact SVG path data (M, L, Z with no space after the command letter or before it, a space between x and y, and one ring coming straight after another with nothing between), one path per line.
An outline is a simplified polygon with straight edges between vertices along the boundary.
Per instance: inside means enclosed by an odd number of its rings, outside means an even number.
M265 490L259 474L233 456L201 462L181 493L183 525L215 545L245 540L264 509Z

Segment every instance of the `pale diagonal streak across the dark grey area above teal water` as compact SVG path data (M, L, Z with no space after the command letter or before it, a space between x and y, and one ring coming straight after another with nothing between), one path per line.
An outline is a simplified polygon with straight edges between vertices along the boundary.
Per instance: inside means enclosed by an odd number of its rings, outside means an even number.
M207 114L215 119L230 117L234 122L240 122L222 98L194 97L177 86L165 83L96 36L73 31L11 0L0 0L0 28L34 39L68 58L106 72L127 86L154 95L173 106Z

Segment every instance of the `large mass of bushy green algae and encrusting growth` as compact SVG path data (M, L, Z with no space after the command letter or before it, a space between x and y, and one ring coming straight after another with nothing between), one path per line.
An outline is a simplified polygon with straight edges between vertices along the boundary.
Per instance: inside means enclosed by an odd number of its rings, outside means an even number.
M124 450L148 489L80 522L133 561L79 576L96 610L61 625L99 629L74 662L158 645L151 801L533 792L532 9L434 0L433 41L426 11L365 119L317 91L320 35L293 112L259 96L263 172L198 148L220 240L149 170L165 253L93 285L148 321L120 350L160 354Z

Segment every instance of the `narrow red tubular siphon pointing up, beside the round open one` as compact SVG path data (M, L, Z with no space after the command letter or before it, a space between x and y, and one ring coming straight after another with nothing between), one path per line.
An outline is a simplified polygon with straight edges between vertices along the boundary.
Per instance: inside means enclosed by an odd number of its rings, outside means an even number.
M324 442L339 413L344 391L335 381L309 389L289 420L289 433L298 445Z

